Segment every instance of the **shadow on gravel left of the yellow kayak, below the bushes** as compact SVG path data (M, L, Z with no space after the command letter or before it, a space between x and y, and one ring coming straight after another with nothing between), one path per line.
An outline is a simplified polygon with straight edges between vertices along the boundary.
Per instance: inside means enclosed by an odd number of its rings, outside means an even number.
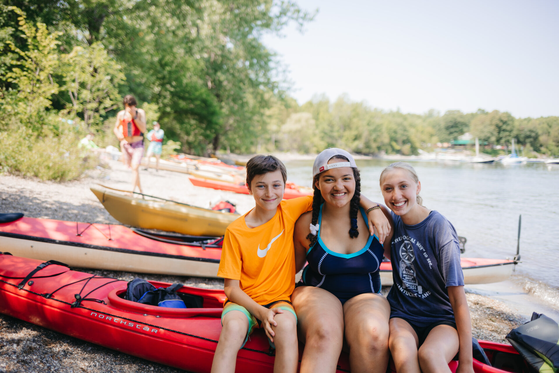
M68 202L41 200L28 196L27 190L18 193L2 193L0 213L23 213L28 218L46 218L83 223L120 224L105 210L101 202L73 205Z

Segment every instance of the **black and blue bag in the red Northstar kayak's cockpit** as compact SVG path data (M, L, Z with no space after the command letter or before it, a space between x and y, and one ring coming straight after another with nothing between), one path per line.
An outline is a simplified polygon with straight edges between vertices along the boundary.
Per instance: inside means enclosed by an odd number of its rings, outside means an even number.
M173 284L169 287L156 288L148 281L136 277L128 283L124 299L159 307L187 308L177 294L177 290L181 287L182 284Z

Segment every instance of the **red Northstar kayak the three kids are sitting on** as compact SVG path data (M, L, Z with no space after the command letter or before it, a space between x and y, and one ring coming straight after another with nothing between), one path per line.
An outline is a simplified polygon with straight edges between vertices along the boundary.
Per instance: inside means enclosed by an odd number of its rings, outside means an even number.
M63 263L0 253L0 313L146 360L191 372L209 372L221 331L224 292L185 286L178 294L187 306L202 304L202 308L162 308L123 299L126 284L72 271ZM511 361L519 359L510 346L480 343L497 367L474 360L476 373L504 372L500 366L510 366ZM272 372L273 362L274 351L266 334L257 329L239 351L236 371ZM454 372L457 362L449 367ZM345 353L340 355L338 372L349 372Z

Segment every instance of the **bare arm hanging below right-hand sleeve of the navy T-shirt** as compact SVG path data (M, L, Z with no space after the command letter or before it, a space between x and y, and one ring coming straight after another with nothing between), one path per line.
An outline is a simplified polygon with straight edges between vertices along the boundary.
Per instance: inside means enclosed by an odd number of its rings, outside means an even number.
M466 300L466 293L463 286L448 286L448 298L451 301L456 329L458 330L458 341L460 343L458 351L457 373L473 373L472 365L472 322L470 319L470 309Z

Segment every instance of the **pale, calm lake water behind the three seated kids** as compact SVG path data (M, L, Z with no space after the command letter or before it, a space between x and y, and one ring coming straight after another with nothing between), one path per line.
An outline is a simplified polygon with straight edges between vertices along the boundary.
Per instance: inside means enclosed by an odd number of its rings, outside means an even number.
M311 186L312 162L286 162L288 180ZM378 177L392 161L356 162L363 195L384 204ZM421 181L423 204L446 216L467 238L465 257L512 259L522 214L522 263L516 273L543 282L553 298L559 294L559 165L411 164Z

